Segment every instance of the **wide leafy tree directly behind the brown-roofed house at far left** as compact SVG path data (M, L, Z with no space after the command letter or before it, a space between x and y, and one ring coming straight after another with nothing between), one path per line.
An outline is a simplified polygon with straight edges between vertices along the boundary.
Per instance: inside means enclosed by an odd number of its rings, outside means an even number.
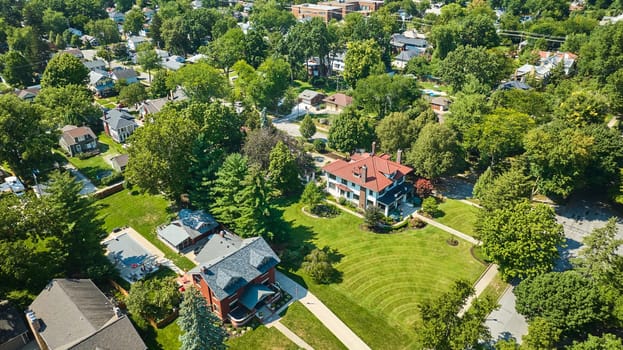
M65 125L88 125L101 129L102 111L93 104L93 93L80 85L46 87L35 99L48 109L47 120L57 128Z

